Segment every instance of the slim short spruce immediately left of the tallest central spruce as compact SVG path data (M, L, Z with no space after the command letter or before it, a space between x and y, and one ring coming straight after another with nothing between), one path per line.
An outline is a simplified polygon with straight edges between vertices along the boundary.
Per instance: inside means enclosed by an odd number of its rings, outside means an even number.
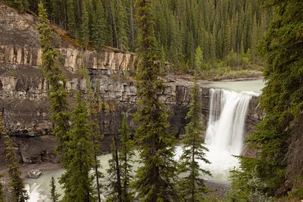
M124 116L121 129L119 130L121 138L121 146L119 159L121 164L121 185L122 185L122 201L130 202L133 200L133 194L130 190L130 183L132 181L132 158L134 153L134 144L130 139L130 130L127 126L127 120Z

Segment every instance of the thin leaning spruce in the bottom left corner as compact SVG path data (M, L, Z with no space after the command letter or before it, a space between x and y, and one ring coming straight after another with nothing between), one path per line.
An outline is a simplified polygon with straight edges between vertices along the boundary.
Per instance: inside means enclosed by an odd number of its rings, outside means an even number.
M27 191L24 187L23 180L21 178L21 171L19 170L19 161L13 147L10 136L7 134L5 129L4 121L2 115L0 115L0 134L4 139L7 155L5 161L9 167L9 176L11 178L10 185L12 187L12 197L13 202L26 202L29 197Z

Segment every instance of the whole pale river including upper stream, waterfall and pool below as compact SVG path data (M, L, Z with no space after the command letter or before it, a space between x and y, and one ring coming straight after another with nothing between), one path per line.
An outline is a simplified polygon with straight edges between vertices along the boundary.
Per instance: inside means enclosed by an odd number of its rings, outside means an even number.
M206 132L206 146L209 148L207 159L212 164L199 162L203 169L211 171L213 177L204 176L205 179L222 184L229 184L229 171L238 167L238 160L231 155L240 155L243 148L243 130L246 112L251 96L258 96L264 87L262 79L249 81L226 81L226 82L200 82L203 87L210 89L210 120ZM219 106L220 110L217 109ZM178 160L182 154L181 146L176 147L175 159ZM106 173L109 168L110 155L99 156L98 159ZM138 164L134 165L136 170ZM58 178L64 172L63 169L45 171L38 179L27 178L25 183L30 193L29 202L39 199L44 202L50 201L49 182L51 177L56 179L56 186L60 189ZM106 183L105 180L103 183Z

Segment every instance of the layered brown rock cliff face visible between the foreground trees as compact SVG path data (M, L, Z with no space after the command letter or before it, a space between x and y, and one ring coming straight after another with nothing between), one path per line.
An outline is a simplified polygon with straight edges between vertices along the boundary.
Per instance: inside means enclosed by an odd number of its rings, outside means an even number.
M59 162L54 154L57 142L51 133L47 102L48 84L38 68L41 65L41 49L35 17L19 14L0 2L0 109L11 135L16 152L23 163L42 161ZM86 89L85 81L77 78L79 67L89 71L92 88L109 106L98 114L101 132L105 135L102 149L109 151L112 134L117 133L124 115L129 118L133 131L132 113L136 111L136 87L134 82L124 81L123 74L134 70L134 56L128 53L106 51L81 51L66 44L58 46L58 64L66 78L71 105L75 90ZM176 136L184 132L185 116L190 102L191 82L168 82L159 97L172 114L169 121ZM201 86L205 120L209 114L209 89ZM247 131L262 117L257 98L252 98L247 114ZM4 161L4 145L0 139L0 163Z

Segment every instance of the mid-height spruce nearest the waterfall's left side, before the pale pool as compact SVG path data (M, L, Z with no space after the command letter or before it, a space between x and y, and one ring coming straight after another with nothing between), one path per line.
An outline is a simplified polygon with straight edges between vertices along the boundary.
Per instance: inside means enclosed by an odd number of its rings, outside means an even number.
M188 176L180 180L181 197L183 201L205 201L203 195L209 192L200 173L210 176L211 173L210 171L200 168L197 161L201 160L210 164L205 158L205 152L208 151L208 148L204 146L204 138L200 135L201 131L204 130L201 124L200 97L199 86L195 79L191 90L190 110L186 116L186 119L189 119L190 122L185 127L185 134L181 137L183 143L183 153L180 157L181 172L189 173Z

